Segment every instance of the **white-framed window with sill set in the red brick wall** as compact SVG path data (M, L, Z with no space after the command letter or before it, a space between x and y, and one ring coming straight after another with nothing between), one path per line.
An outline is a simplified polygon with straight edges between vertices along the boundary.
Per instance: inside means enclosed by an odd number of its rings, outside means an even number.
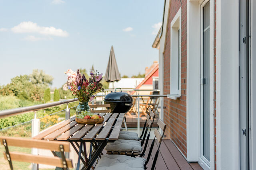
M176 100L181 96L181 8L171 22L170 95Z

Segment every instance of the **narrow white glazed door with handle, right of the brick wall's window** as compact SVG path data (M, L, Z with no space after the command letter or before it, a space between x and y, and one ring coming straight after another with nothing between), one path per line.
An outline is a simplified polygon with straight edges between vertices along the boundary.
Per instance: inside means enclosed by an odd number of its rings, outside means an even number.
M201 159L210 166L210 1L201 4Z

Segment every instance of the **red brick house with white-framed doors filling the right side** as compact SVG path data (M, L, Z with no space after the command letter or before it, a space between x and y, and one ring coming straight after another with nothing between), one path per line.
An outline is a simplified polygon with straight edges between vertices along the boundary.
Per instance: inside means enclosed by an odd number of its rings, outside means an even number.
M256 0L165 0L160 118L189 162L256 169Z

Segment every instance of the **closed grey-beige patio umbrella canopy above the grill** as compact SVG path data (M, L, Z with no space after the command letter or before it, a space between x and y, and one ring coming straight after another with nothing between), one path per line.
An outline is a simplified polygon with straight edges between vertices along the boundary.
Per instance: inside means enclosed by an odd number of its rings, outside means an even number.
M106 80L106 82L114 82L114 81L119 81L121 79L120 73L118 71L118 67L116 64L116 57L115 57L113 46L111 46L110 55L108 59L108 66L107 66L104 79Z

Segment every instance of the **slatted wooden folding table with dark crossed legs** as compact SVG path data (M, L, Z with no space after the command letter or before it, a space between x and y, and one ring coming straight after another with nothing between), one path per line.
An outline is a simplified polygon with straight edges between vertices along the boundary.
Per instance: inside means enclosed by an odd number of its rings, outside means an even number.
M118 139L124 119L124 113L97 113L104 117L103 123L95 125L78 124L75 117L53 126L33 137L38 140L69 141L78 154L78 168L80 160L84 164L82 169L89 170L100 156L108 142ZM86 154L85 142L90 142L89 156ZM82 146L84 145L84 150ZM79 150L77 149L79 148ZM92 147L94 151L92 151ZM81 154L85 157L82 159Z

